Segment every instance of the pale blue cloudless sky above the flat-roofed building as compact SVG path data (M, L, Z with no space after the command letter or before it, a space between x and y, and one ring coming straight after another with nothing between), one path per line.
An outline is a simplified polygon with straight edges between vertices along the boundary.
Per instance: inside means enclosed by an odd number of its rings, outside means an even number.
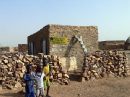
M99 41L130 36L130 0L0 0L0 46L27 43L47 24L98 26Z

